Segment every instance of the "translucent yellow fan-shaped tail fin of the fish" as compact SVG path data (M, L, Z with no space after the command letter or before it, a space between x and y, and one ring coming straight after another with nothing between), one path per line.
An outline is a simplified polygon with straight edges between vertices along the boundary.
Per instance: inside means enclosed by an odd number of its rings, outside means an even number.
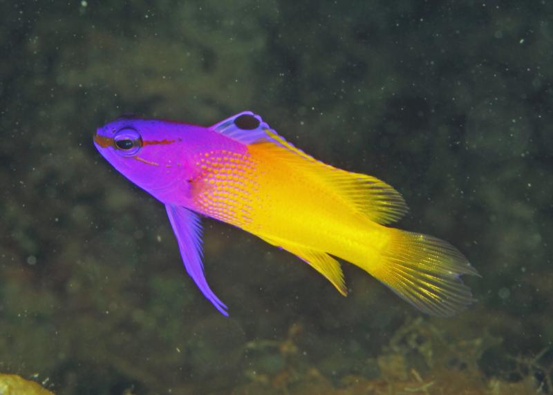
M478 272L455 247L420 233L390 231L381 259L364 269L427 314L452 316L475 301L460 276Z

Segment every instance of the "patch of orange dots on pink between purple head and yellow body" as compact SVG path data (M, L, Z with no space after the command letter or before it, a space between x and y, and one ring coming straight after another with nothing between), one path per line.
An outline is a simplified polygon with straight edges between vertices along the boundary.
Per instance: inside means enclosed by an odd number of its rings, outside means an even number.
M250 155L209 151L198 156L201 169L196 203L212 218L247 227L252 223L253 196L259 191L256 163Z

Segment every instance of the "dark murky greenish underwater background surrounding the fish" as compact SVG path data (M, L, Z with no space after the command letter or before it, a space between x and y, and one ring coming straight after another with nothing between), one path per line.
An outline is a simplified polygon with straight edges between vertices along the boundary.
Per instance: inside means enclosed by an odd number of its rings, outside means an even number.
M552 394L553 3L0 1L0 373L56 394ZM424 316L344 264L165 208L103 160L122 114L252 110L395 186L478 302Z

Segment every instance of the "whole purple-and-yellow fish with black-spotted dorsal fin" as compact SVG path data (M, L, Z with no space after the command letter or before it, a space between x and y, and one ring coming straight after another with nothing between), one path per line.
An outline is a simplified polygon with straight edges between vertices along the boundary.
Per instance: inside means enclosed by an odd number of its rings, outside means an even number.
M200 216L294 254L346 295L341 258L427 314L451 316L474 299L476 275L447 242L386 227L407 206L395 189L307 155L247 111L204 127L122 118L98 128L98 151L167 209L185 268L225 316L202 263Z

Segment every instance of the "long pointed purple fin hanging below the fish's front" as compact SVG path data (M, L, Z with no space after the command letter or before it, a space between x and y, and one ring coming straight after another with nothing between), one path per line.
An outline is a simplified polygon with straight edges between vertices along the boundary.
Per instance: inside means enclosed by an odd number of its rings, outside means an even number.
M200 291L205 297L221 311L221 314L228 316L227 307L209 288L202 264L202 224L198 214L185 209L184 207L166 204L169 222L175 232L180 256L185 263L185 268L189 276L196 282Z

